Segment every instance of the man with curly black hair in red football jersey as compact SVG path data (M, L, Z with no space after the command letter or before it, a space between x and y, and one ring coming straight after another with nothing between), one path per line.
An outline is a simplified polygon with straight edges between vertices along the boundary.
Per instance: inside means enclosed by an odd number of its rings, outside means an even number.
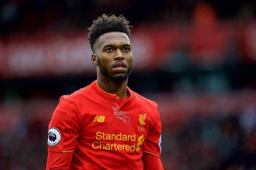
M127 87L130 26L103 14L89 28L97 80L62 96L49 123L47 170L162 170L156 102Z

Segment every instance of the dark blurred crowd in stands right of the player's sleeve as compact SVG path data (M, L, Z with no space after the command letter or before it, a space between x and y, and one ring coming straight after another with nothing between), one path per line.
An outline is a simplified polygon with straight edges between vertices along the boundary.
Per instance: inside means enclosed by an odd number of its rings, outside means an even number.
M184 126L163 131L167 170L254 170L256 111L195 116ZM163 143L164 144L164 143Z

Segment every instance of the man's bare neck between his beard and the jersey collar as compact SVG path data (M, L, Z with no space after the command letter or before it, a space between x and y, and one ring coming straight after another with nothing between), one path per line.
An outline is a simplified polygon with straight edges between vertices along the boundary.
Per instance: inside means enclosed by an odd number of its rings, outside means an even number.
M111 94L116 94L121 99L127 97L128 95L127 94L128 80L125 80L124 82L112 82L109 79L98 75L97 83L99 87L102 88L102 90Z

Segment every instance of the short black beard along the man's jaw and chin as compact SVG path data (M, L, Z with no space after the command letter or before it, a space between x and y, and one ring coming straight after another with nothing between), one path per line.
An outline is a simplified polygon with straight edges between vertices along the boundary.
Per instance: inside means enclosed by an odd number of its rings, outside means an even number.
M131 74L132 63L131 63L130 68L128 69L127 73L126 73L124 76L119 76L119 77L113 77L112 75L108 74L107 69L104 68L104 67L101 65L101 62L99 61L99 58L98 58L98 63L99 63L100 72L101 72L106 78L108 78L109 80L111 80L112 82L124 82L125 80L128 79L129 75Z

